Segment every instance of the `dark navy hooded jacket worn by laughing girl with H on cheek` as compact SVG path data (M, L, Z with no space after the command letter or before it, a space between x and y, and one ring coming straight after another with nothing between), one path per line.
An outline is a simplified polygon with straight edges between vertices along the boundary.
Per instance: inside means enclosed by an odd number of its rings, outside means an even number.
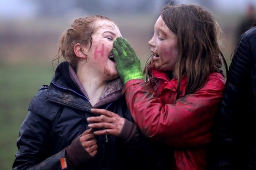
M67 62L58 65L51 84L42 86L32 99L20 127L14 170L60 170L66 147L88 129L86 118L96 116L90 112L92 106L72 81L68 68ZM106 94L96 108L108 109L133 121L121 89ZM138 166L144 169L160 166L160 157L151 152L140 131L132 135L128 141L110 135L96 136L98 153L76 169L130 170ZM70 164L67 167L72 169Z

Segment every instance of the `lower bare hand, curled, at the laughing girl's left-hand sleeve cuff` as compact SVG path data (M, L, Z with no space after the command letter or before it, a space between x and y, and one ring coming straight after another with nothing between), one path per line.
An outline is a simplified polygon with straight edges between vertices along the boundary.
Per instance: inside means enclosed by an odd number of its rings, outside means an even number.
M91 156L94 157L96 155L98 145L96 144L97 141L92 129L85 130L84 133L82 133L80 136L80 142Z

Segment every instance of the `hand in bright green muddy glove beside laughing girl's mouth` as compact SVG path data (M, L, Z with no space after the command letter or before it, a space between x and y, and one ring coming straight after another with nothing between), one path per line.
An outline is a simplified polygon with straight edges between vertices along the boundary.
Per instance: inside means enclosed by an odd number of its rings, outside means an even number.
M117 37L112 51L117 71L124 83L130 79L143 79L140 59L125 38Z

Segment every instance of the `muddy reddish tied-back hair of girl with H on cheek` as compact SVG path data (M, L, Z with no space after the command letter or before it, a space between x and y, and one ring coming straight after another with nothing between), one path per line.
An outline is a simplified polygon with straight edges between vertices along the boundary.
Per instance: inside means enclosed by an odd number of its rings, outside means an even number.
M115 22L103 15L93 15L89 17L79 17L64 31L59 39L58 54L53 59L59 59L61 56L64 57L66 61L76 70L76 65L79 60L73 51L76 43L87 45L90 43L92 45L92 34L97 28L95 28L94 23L96 20L108 20L115 24Z

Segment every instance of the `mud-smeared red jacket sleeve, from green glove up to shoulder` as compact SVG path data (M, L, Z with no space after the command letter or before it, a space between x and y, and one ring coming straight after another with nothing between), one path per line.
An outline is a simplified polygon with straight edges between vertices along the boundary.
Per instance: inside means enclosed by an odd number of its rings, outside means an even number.
M125 99L135 122L153 140L163 140L171 147L193 147L211 141L211 128L221 101L225 80L220 74L209 78L196 91L163 104L142 79L125 85ZM160 95L170 95L163 91Z

